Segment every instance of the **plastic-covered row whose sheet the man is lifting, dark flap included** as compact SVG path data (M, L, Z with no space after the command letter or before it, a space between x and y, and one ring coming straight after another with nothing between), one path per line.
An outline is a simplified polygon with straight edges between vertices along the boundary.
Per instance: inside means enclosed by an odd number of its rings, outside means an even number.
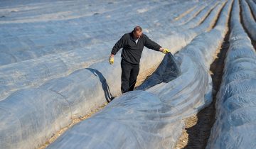
M225 5L213 30L198 35L174 55L181 70L176 79L177 67L166 55L158 70L137 88L146 91L122 94L48 148L174 148L183 118L211 102L208 70L227 31L232 2Z

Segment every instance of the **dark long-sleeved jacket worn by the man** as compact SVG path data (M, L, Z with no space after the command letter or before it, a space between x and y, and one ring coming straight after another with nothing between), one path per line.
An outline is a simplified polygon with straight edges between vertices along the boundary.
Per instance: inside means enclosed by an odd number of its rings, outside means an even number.
M142 50L144 46L149 49L159 51L161 46L154 41L150 40L145 34L142 33L142 36L138 40L138 44L136 44L135 39L132 38L133 33L126 33L120 38L117 43L112 48L111 53L115 55L118 50L123 48L122 50L122 59L131 63L131 64L139 64L140 58L142 57Z

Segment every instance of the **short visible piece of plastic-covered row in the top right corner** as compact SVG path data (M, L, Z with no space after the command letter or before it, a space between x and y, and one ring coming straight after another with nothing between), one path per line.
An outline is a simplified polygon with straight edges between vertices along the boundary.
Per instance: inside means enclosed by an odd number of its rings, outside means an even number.
M245 28L252 37L252 40L256 40L256 22L250 12L250 7L245 0L241 1L242 6L242 21L245 24ZM256 4L255 4L256 6ZM255 8L256 9L256 8Z

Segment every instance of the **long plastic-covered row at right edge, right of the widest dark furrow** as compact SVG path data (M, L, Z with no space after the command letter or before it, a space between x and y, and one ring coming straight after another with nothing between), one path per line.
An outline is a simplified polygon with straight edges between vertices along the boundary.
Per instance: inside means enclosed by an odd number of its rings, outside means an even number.
M256 53L240 23L238 1L231 16L230 48L207 148L255 148Z

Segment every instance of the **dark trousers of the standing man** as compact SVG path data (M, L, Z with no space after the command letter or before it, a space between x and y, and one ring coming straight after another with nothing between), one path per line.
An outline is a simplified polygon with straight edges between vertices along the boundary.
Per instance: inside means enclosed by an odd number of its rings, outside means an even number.
M135 83L137 81L137 76L139 75L139 64L134 65L125 60L121 61L122 67L122 84L121 84L121 92L129 92L134 89Z

